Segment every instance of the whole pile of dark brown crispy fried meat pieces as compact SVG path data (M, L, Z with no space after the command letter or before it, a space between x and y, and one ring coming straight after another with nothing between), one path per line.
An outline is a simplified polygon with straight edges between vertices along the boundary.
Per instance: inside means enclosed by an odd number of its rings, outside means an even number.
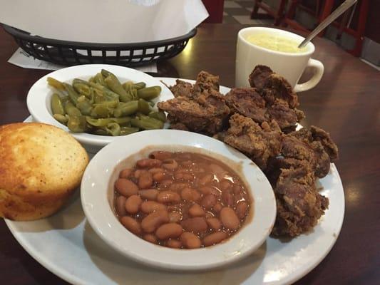
M194 85L177 80L175 98L158 103L171 128L214 136L250 157L267 175L277 200L272 235L296 237L309 231L329 206L317 178L326 176L338 157L329 133L311 126L296 130L304 118L289 83L267 66L256 66L251 88L219 92L219 78L202 71Z

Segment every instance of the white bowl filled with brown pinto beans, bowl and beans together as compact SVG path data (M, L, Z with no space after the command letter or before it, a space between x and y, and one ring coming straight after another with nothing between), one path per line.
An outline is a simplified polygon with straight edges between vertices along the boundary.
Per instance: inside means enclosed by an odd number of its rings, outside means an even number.
M81 202L120 254L170 270L205 270L247 257L276 215L272 187L245 155L180 130L115 140L83 175Z

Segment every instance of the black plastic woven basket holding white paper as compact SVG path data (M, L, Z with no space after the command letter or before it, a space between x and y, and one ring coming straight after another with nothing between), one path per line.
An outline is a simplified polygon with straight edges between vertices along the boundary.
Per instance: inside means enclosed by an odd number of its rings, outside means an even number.
M188 44L189 39L197 33L197 29L194 28L189 33L177 38L146 43L82 43L31 36L26 31L5 24L1 25L26 53L34 58L62 66L87 63L141 66L177 56Z

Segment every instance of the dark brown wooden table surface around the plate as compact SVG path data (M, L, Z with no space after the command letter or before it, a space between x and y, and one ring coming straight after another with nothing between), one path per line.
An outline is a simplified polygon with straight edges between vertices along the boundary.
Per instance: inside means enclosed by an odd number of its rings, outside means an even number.
M158 63L158 74L195 79L205 70L234 86L235 24L203 24L179 56ZM323 38L314 40L314 58L325 66L318 86L299 94L302 125L329 131L339 146L336 162L346 197L342 232L332 251L297 284L379 284L380 282L380 72ZM29 88L49 71L7 63L16 51L0 29L0 124L29 116ZM67 284L34 261L0 220L0 272L4 284ZM58 257L58 253L57 253Z

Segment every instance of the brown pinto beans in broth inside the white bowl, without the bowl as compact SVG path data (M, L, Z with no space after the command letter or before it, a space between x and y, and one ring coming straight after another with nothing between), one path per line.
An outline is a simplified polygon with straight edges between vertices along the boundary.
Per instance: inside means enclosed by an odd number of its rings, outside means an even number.
M227 240L244 226L251 207L239 175L197 152L151 152L120 171L114 197L115 214L126 229L180 249ZM190 237L194 242L187 241Z

